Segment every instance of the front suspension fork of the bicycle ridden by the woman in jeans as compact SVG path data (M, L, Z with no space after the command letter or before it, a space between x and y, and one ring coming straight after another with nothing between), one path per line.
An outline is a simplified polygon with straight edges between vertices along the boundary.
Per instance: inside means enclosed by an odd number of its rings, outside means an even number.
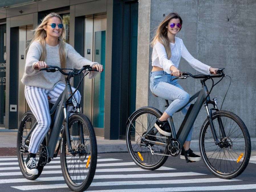
M209 121L209 125L210 125L210 128L212 130L212 135L213 135L213 138L214 138L214 142L216 145L220 145L220 141L217 137L217 134L216 134L216 130L214 128L214 124L213 124L213 121L212 121L212 110L216 110L218 111L218 108L217 108L217 98L213 98L214 102L210 101L210 99L208 101L205 101L204 102L204 107L206 109L206 113L207 113L207 118L208 118L208 121ZM212 104L214 106L214 108L211 108L210 110L208 109L208 103ZM222 138L226 137L226 134L225 134L225 130L224 130L224 127L223 127L223 123L222 123L222 120L220 117L217 117L218 119L218 123L219 123L219 126L220 126L220 132L222 134ZM221 135L220 135L221 136Z

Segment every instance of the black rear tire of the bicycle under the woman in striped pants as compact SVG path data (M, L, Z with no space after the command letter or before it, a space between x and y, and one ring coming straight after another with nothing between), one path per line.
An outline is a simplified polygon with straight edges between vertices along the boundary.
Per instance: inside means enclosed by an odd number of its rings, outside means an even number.
M21 145L21 143L23 143L23 138L25 139L25 137L27 136L27 134L29 133L30 129L33 126L31 123L30 127L29 127L29 131L27 131L27 126L26 126L26 125L28 125L27 122L30 122L30 121L32 122L32 119L36 123L36 118L34 117L33 113L31 111L25 112L25 114L23 115L21 122L19 124L19 129L18 129L18 133L17 133L17 156L18 156L19 167L20 167L20 170L21 170L21 173L23 174L23 176L28 180L37 179L43 170L43 167L38 165L38 168L37 168L38 174L37 175L27 174L26 168L24 165L24 161L26 160L27 155L29 153L20 153L20 145ZM25 126L26 126L26 129L25 129L26 131L24 131ZM24 135L23 135L23 132L25 132ZM36 155L38 156L38 154L36 154ZM38 162L38 159L37 159L37 162Z

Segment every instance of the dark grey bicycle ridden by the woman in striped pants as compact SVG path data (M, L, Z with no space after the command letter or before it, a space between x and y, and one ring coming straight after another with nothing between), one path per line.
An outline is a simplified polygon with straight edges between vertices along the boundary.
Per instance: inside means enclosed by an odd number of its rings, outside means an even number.
M61 170L68 187L72 191L84 191L92 183L96 171L97 141L92 123L87 116L80 112L80 104L76 102L73 95L83 78L90 71L97 70L89 65L83 66L80 70L59 68L57 66L48 66L48 68L41 70L46 70L47 72L59 71L64 74L66 76L66 87L50 109L50 130L42 141L39 152L36 154L38 162L37 175L28 174L24 164L29 155L28 148L31 133L36 127L37 121L31 111L27 111L23 115L17 134L19 167L25 178L35 180L42 173L44 166L52 158L56 158L60 151ZM67 70L71 70L71 72L65 72ZM87 73L81 78L80 74L83 71ZM78 76L80 82L75 91L72 92L70 79L74 76ZM68 106L72 106L69 107L72 108L71 111L67 111Z

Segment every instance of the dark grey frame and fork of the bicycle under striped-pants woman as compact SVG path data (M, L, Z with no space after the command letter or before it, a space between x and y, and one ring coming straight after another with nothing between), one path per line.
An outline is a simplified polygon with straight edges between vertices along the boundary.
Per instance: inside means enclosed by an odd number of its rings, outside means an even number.
M61 128L63 125L63 120L64 120L64 124L65 124L64 128L65 128L66 140L67 140L67 145L68 145L68 152L70 152L71 154L74 153L72 150L72 146L71 146L70 131L69 131L69 127L68 127L68 123L69 123L68 118L70 116L70 113L73 111L66 112L66 108L68 105L73 105L73 107L74 107L73 102L75 102L75 101L72 102L72 98L70 98L69 101L66 101L72 95L72 91L70 89L70 83L69 83L68 76L65 78L65 80L66 80L66 87L65 87L64 91L61 93L61 95L58 97L56 103L53 105L53 107L50 110L50 114L54 115L55 118L52 121L52 123L54 122L53 126L51 123L52 128L51 128L50 134L49 133L46 134L46 146L48 149L48 157L49 158L54 157L54 151L56 148L56 144L59 140L59 135L60 135ZM78 103L77 103L77 112L80 112L80 105ZM31 128L30 132L28 133L27 137L24 140L24 143L26 143L27 139L33 132L36 125L37 125L37 122ZM81 127L79 126L79 128L81 128ZM79 131L82 131L82 130L79 130ZM81 142L84 144L83 137L81 139Z

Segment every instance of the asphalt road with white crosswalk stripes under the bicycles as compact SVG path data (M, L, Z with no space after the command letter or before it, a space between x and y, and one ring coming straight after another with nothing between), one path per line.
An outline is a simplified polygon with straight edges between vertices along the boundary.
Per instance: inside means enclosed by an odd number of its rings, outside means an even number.
M256 164L249 163L234 180L214 176L204 162L186 163L169 157L155 171L135 165L129 153L100 153L94 180L87 191L256 191ZM44 167L35 181L26 180L15 158L0 158L0 191L71 191L59 168L59 159Z

